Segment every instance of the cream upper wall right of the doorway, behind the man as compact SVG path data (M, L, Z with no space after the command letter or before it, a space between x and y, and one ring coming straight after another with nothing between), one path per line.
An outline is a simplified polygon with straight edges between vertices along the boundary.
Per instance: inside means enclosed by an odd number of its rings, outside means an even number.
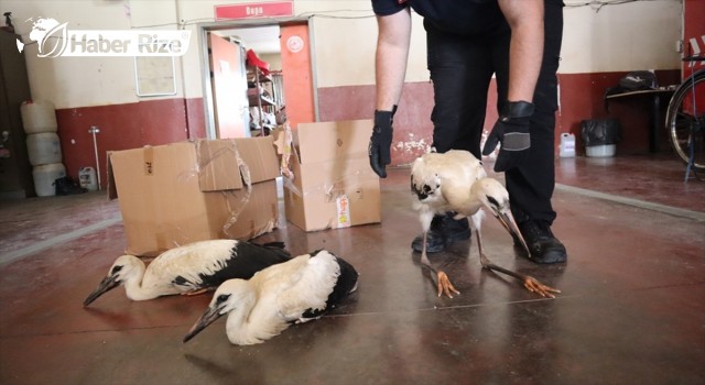
M577 7L586 2L565 0L562 74L679 68L681 0ZM375 84L375 18L345 19L345 11L334 12L345 8L332 6L325 16L314 18L318 86ZM426 80L425 35L421 18L414 15L406 81Z

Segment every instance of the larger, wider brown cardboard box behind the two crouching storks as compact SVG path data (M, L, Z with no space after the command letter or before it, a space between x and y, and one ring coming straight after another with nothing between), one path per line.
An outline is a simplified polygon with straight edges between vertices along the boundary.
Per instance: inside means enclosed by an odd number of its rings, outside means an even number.
M279 164L272 138L196 140L108 154L127 253L251 239L276 228Z

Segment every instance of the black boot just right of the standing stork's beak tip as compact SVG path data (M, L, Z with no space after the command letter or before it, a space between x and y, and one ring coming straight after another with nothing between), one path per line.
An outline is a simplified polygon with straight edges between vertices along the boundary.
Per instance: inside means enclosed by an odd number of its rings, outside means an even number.
M567 260L565 246L553 235L551 226L547 222L529 220L519 223L519 231L521 231L521 235L531 251L529 256L531 261L550 264ZM514 245L521 246L518 239L514 239Z

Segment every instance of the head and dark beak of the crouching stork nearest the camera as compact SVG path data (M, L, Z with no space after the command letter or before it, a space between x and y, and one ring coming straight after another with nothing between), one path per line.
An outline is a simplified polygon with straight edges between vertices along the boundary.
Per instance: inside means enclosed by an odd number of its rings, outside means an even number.
M198 334L202 330L215 322L218 318L237 308L251 308L254 302L254 293L245 279L228 279L224 282L213 295L208 309L198 318L196 323L184 336L183 342ZM248 309L249 310L249 309Z

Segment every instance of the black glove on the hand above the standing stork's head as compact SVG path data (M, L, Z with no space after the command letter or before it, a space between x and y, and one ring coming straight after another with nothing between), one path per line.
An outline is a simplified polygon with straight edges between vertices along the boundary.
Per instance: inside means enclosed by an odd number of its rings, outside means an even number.
M497 147L497 142L501 142L495 172L514 168L529 155L529 123L532 114L533 105L528 101L509 101L502 109L482 147L482 155L489 155Z

